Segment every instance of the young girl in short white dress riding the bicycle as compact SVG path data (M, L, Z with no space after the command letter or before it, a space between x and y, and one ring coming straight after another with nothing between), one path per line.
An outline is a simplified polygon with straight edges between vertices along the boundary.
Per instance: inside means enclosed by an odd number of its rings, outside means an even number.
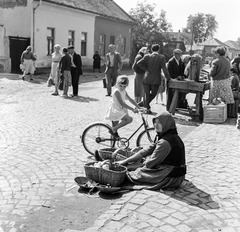
M112 129L109 133L115 138L119 138L117 130L132 122L132 117L128 115L128 110L138 113L140 107L129 97L126 87L129 84L127 76L119 76L116 82L116 89L113 91L112 104L109 107L105 119L112 121ZM125 99L129 100L136 108L132 108L125 103ZM120 121L120 122L119 122Z

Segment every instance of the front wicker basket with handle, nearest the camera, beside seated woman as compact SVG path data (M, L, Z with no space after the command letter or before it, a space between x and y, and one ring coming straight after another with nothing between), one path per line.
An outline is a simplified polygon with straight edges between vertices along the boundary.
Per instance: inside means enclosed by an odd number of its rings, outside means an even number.
M99 184L120 186L126 178L126 167L121 165L112 165L111 170L94 167L95 162L84 165L86 177L96 181Z

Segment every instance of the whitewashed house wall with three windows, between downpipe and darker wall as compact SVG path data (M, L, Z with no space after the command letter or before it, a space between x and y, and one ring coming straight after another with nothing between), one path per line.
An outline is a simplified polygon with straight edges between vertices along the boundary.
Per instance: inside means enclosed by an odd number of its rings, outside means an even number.
M55 44L68 46L68 31L75 31L75 51L81 54L81 35L87 33L87 55L82 56L83 65L92 63L95 15L42 2L35 12L34 44L37 67L49 66L47 55L47 28L55 29Z

